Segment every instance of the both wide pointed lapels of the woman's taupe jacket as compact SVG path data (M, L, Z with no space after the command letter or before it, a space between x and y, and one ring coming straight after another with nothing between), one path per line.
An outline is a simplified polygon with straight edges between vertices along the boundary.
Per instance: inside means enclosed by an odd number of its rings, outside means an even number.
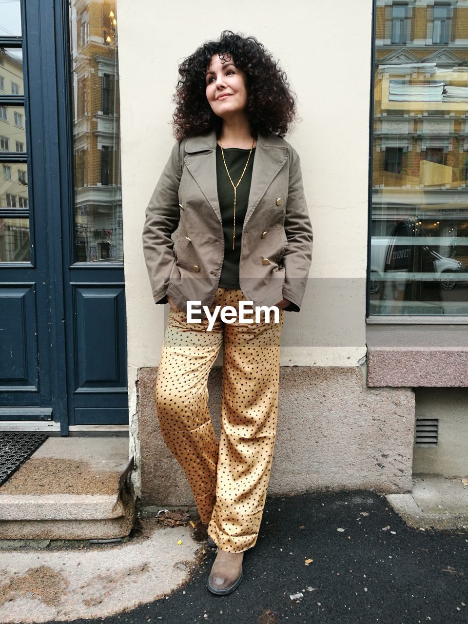
M185 145L185 165L222 222L216 177L216 133L191 137ZM266 189L288 158L288 147L275 134L258 136L253 159L252 180L244 225L248 222Z

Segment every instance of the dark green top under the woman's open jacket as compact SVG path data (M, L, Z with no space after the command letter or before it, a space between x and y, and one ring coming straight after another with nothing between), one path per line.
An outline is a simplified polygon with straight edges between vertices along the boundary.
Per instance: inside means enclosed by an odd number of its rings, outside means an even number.
M237 184L247 162L249 150L237 147L223 149L226 164L234 184ZM253 157L255 147L250 154L250 160L243 178L236 190L236 236L234 250L232 248L232 233L234 225L234 188L228 178L223 162L221 148L216 148L216 176L218 186L218 202L220 203L221 217L224 232L224 260L219 286L221 288L240 288L239 263L240 243L245 213L247 212L250 183L252 181Z

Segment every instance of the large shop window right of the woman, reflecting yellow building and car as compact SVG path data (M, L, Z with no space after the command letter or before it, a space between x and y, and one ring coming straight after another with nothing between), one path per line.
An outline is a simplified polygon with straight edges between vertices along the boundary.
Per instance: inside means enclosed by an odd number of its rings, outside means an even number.
M468 7L452 4L412 27L419 42L454 32L452 62L434 43L398 62L376 46L371 314L468 315Z

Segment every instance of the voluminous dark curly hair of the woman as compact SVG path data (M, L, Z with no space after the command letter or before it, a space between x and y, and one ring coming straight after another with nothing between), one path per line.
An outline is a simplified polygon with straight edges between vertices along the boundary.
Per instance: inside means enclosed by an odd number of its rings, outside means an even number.
M214 54L222 61L232 58L235 66L245 72L246 112L251 128L259 134L285 135L296 115L295 97L285 72L255 37L223 31L219 41L206 42L178 68L173 114L176 139L221 128L222 119L213 113L205 94L207 69Z

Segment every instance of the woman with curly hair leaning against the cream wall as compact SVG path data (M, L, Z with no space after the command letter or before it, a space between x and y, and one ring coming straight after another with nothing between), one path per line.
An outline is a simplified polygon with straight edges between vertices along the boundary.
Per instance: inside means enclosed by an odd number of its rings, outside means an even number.
M163 438L218 547L208 589L225 594L240 583L243 553L258 537L276 435L283 310L300 310L313 236L299 158L281 138L295 101L271 55L254 37L225 31L185 59L179 74L178 141L143 236L154 300L170 305L155 396ZM187 316L188 301L207 308L198 322ZM242 301L278 306L278 322L265 314L241 323ZM210 329L217 306L231 306L236 318L218 316ZM207 379L222 344L218 444Z

